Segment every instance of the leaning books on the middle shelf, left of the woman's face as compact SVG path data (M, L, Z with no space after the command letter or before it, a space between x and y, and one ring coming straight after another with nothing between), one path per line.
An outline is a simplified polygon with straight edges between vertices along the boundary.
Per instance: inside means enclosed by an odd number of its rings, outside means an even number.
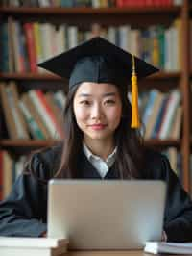
M21 96L15 83L1 83L0 96L9 138L60 139L61 115L65 95L61 90L46 92L29 90Z

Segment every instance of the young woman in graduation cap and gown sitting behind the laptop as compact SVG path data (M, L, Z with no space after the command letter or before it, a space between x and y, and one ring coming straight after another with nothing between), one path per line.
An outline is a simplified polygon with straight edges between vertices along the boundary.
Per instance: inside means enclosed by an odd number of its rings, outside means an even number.
M69 78L63 113L64 139L34 154L0 204L0 236L46 234L47 182L75 179L148 179L167 183L164 238L192 240L192 203L166 157L143 145L132 128L128 79L132 56L102 38L42 64ZM140 77L156 71L135 59Z

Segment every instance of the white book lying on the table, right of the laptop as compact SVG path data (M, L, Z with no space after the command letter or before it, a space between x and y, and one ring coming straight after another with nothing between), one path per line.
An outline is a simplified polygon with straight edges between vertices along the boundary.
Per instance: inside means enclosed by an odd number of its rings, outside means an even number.
M148 253L191 254L192 243L147 242L144 251Z

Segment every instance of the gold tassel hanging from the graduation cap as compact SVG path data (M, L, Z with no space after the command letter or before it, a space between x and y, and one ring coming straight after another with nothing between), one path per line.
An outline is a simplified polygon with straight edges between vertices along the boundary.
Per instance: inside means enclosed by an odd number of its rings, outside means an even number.
M132 55L132 124L131 127L137 129L140 127L138 113L138 86L135 72L134 56Z

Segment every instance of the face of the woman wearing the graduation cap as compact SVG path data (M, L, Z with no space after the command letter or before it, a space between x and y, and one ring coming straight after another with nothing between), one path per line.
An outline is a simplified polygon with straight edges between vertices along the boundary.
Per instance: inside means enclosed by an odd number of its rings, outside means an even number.
M82 83L74 96L73 109L84 140L113 139L122 115L120 94L114 85Z

